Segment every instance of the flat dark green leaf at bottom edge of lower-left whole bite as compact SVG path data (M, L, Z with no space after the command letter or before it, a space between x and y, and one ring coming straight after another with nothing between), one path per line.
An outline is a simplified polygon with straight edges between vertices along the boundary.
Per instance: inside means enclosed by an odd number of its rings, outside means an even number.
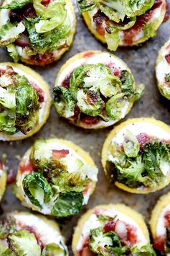
M82 193L60 193L52 206L52 215L67 217L80 212L83 202Z

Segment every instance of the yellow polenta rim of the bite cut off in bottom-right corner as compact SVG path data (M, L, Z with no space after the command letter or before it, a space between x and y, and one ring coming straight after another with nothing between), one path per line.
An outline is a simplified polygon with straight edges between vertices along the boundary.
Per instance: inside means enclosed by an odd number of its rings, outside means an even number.
M151 227L151 234L152 237L156 237L156 228L158 224L159 217L161 215L161 212L164 211L164 208L170 204L170 192L166 195L161 196L159 198L158 202L156 203L156 206L154 207L154 210L151 213L151 219L150 219L150 227Z

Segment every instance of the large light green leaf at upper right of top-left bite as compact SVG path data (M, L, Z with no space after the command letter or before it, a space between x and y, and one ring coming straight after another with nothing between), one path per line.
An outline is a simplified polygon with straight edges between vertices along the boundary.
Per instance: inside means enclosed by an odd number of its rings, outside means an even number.
M64 22L66 16L65 1L53 1L48 4L44 14L42 14L41 20L35 24L35 29L38 33L54 30Z

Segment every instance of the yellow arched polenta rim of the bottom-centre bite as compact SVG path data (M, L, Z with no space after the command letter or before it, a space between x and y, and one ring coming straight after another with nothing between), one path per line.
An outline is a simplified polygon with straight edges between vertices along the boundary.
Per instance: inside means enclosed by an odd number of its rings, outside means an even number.
M72 237L72 251L75 256L78 256L77 252L76 252L76 247L77 247L77 243L80 240L80 236L82 234L82 229L85 226L86 221L88 221L91 214L96 209L105 209L108 211L112 211L113 209L115 209L115 211L118 211L120 213L125 214L128 217L131 217L134 221L136 221L136 224L138 224L138 226L141 228L141 230L143 231L143 234L146 237L146 239L148 240L148 242L150 242L147 226L145 224L143 216L140 213L138 213L137 211L135 211L135 210L131 209L130 207L125 206L123 204L101 205L101 206L96 206L95 208L87 211L84 215L82 215L82 217L78 221L77 226L75 227L73 237Z

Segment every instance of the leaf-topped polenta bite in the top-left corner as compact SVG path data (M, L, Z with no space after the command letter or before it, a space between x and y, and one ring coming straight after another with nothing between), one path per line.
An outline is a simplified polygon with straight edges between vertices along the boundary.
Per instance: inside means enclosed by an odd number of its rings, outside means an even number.
M44 66L70 48L75 34L70 0L5 0L0 9L0 46L14 62Z

